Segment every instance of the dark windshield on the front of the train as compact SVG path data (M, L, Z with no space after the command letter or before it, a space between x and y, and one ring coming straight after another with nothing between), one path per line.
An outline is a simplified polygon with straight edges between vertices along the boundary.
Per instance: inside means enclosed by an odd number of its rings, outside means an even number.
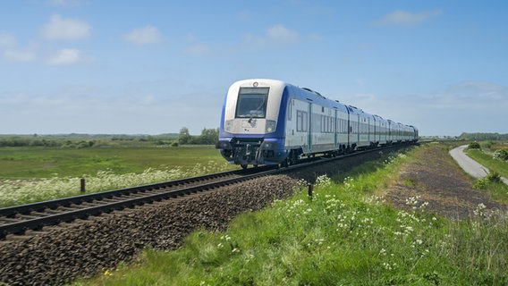
M236 118L265 118L270 88L240 88Z

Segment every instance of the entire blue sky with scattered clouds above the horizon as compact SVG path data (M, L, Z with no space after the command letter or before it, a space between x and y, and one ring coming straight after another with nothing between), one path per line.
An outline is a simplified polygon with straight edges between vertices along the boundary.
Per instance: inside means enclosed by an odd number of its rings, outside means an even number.
M504 0L17 0L0 134L217 128L236 80L317 90L424 136L508 133Z

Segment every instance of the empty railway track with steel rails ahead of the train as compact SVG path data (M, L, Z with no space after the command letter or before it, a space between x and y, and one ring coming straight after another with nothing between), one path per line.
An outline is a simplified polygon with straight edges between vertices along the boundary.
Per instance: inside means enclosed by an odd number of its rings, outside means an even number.
M115 210L252 180L276 172L273 169L262 167L219 172L176 181L0 208L0 240L4 240L10 234L22 235L25 231L39 231L48 225L70 223L76 219L87 219L93 215L111 213Z

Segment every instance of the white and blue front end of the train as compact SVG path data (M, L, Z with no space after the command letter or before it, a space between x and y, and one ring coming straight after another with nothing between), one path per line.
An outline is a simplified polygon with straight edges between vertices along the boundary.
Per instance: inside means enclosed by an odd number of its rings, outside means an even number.
M241 80L229 88L216 148L230 164L284 161L284 88L279 80Z

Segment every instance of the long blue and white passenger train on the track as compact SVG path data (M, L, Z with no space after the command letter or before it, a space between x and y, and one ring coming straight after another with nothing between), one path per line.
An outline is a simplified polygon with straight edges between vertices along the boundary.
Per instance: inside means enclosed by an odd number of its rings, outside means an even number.
M283 80L234 82L222 107L216 148L230 164L296 164L303 156L416 142L418 129L368 114Z

